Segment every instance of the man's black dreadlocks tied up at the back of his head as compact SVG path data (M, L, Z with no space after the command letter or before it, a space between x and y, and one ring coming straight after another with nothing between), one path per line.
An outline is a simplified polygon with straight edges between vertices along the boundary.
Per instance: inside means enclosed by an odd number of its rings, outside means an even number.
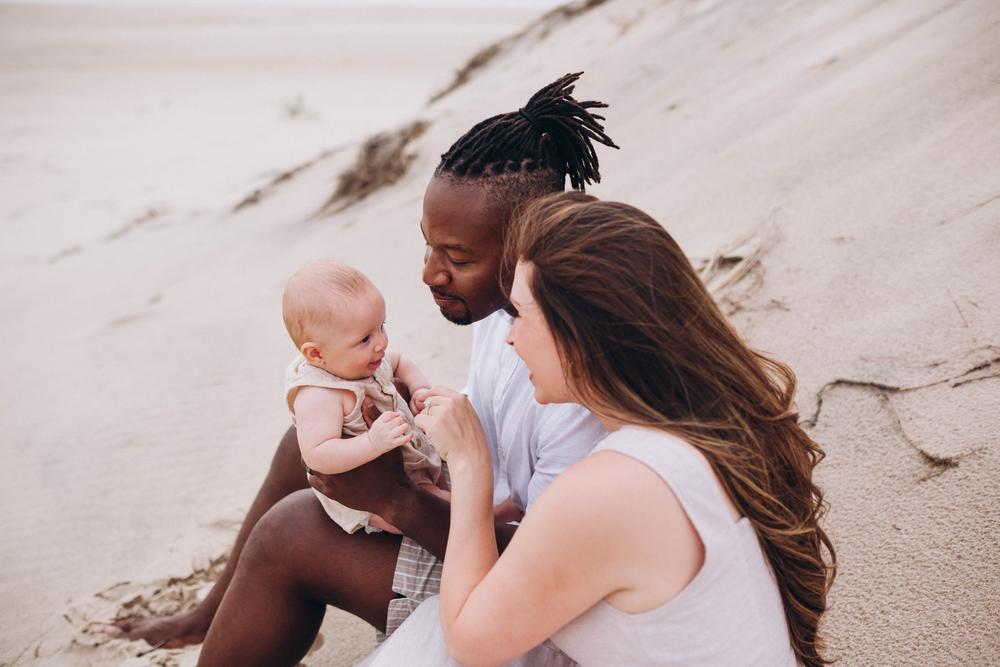
M604 102L578 102L574 83L583 72L567 74L531 96L521 109L477 123L441 156L434 174L467 178L501 174L535 175L547 190L562 190L566 176L574 190L599 183L594 141L618 148L604 133ZM558 185L556 185L558 184Z

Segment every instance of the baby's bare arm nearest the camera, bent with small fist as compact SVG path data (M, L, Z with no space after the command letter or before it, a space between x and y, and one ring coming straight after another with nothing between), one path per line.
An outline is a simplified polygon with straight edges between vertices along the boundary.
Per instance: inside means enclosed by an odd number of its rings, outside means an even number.
M316 472L352 470L410 441L410 425L398 412L379 416L364 435L342 437L354 395L343 389L302 387L295 396L295 430L302 460Z

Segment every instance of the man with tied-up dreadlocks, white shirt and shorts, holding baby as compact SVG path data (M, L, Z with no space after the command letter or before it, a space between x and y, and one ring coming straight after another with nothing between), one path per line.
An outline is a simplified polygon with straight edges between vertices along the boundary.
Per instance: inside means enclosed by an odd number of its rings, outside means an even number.
M524 108L475 125L442 156L424 196L423 280L447 319L480 323L467 391L490 444L498 499L509 491L520 510L604 435L578 407L535 403L526 367L504 343L510 317L502 310L503 243L511 216L527 199L564 189L566 176L580 189L599 181L592 140L617 148L603 118L589 111L606 105L571 96L577 78L566 75ZM163 645L191 643L208 631L204 665L294 665L327 604L391 633L437 592L447 502L409 483L398 450L311 479L325 495L378 514L405 537L349 535L334 525L312 494L300 491L305 476L290 430L206 600L184 616L122 630ZM501 520L496 529L502 550L515 526Z

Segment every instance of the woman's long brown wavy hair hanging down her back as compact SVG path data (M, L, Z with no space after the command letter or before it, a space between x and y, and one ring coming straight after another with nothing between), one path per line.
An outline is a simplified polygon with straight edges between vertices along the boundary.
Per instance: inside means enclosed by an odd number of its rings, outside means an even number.
M836 555L812 481L823 451L798 424L792 371L743 342L670 234L632 206L536 199L509 230L508 270L514 261L535 267L530 287L574 395L705 455L757 530L799 662L829 664L818 626Z

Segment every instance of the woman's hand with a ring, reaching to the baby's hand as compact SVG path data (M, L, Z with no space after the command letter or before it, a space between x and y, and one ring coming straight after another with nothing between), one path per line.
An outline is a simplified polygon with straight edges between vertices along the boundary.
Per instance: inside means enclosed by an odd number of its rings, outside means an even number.
M449 466L484 456L489 461L483 426L465 394L434 387L424 398L424 410L414 422L427 433Z

